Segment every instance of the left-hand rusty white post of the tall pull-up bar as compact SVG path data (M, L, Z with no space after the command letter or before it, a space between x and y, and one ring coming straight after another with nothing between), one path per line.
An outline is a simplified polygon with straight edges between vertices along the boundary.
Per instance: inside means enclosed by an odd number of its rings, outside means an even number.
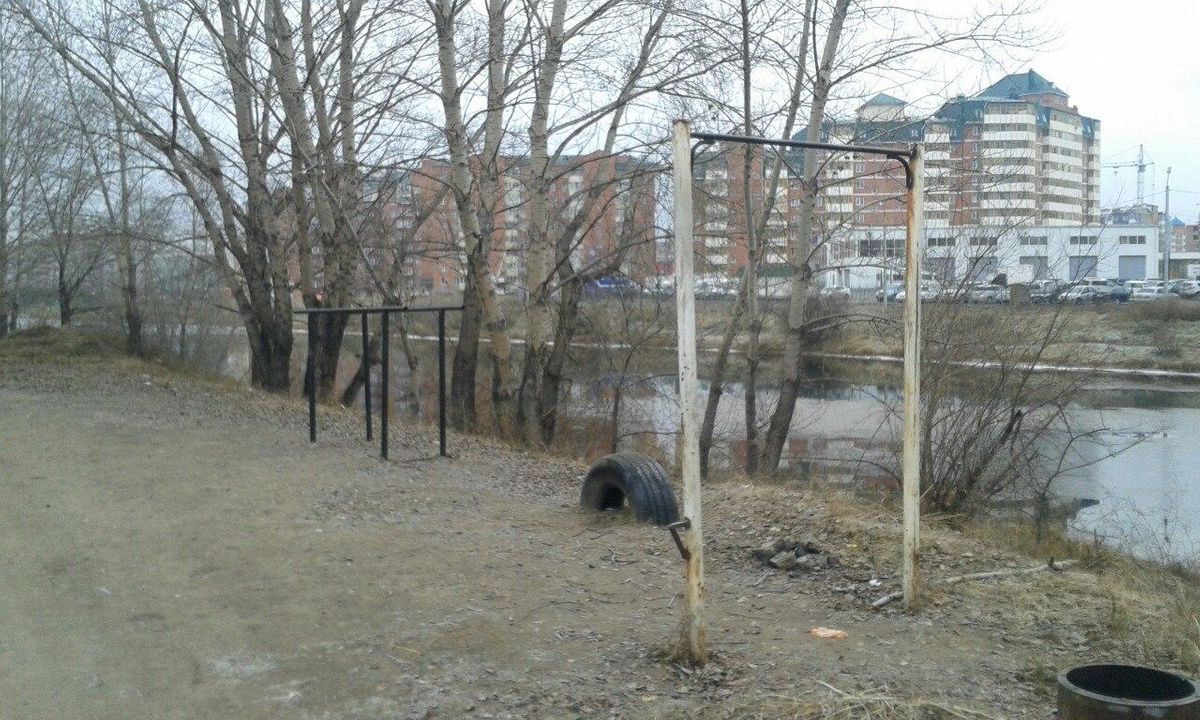
M708 661L704 624L704 533L700 487L700 396L696 389L696 286L692 269L691 128L686 120L672 127L674 168L676 323L679 348L679 468L688 562L680 650L688 661Z

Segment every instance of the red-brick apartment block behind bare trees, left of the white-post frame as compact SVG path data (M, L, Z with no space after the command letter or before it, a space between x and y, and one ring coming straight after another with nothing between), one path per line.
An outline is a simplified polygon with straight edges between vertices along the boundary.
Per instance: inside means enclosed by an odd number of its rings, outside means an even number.
M478 173L478 161L475 172ZM488 264L500 292L524 290L526 253L530 238L528 157L498 160L500 193L480 214L490 233ZM406 292L457 292L464 286L466 242L454 193L446 185L449 164L425 158L415 169L371 184L365 228L367 256L374 264L400 263ZM640 277L654 269L654 176L656 169L638 158L601 154L560 156L551 168L551 238L569 229L569 252L576 270L616 264ZM581 214L592 200L590 212ZM482 199L475 194L475 203Z

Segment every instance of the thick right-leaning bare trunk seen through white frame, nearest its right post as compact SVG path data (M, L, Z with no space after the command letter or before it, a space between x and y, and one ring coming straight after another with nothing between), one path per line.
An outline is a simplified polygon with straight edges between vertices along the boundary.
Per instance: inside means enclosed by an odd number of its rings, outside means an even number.
M824 47L821 52L821 65L817 68L816 82L812 88L812 106L809 109L809 127L805 139L818 142L821 139L821 126L824 122L826 103L829 101L829 90L833 85L833 64L838 54L838 46L841 41L841 29L850 10L850 0L836 0L833 16L829 19L829 30L826 35ZM784 349L784 378L779 388L779 404L770 418L770 426L763 440L762 462L760 467L775 472L779 461L784 455L784 445L787 443L787 434L792 427L792 416L796 413L796 398L800 394L800 380L803 373L802 359L805 340L805 320L808 319L809 287L812 283L812 226L816 210L816 178L818 167L814 150L804 150L804 176L802 180L803 194L800 197L799 222L796 234L796 242L792 247L792 296L787 308L787 337Z

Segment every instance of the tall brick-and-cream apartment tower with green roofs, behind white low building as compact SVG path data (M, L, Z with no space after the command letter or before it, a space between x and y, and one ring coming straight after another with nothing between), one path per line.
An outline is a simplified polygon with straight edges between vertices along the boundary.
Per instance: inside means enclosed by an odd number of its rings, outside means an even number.
M1094 224L1099 121L1068 101L1031 70L955 97L930 118L910 115L902 100L880 94L853 120L826 122L822 134L827 142L895 148L923 142L929 228ZM886 157L832 157L821 175L824 224L902 226L902 176Z

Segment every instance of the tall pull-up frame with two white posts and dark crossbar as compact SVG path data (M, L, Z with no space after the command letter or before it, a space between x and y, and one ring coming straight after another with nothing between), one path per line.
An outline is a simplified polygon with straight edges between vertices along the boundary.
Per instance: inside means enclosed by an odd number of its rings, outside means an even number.
M842 145L758 138L752 136L691 133L686 120L676 120L672 128L672 164L674 173L674 269L676 314L679 354L679 443L683 474L683 511L688 521L683 548L688 562L684 623L680 650L692 662L708 660L704 623L704 538L701 522L698 391L696 380L696 299L694 286L692 166L696 150L715 143L772 145L802 150L827 150L882 155L904 167L908 191L907 233L905 239L905 317L904 317L904 599L907 607L918 602L920 586L917 568L920 523L920 236L924 222L922 193L924 158L919 144L907 150L877 145ZM698 140L694 146L692 138ZM748 288L750 293L756 288ZM678 540L677 540L678 542Z

